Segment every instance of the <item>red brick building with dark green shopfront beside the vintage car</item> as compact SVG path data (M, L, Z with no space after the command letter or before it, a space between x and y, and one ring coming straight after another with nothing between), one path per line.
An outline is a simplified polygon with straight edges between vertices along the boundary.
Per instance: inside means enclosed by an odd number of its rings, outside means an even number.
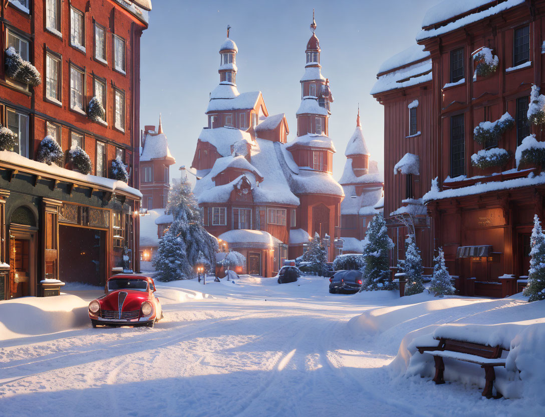
M42 81L17 81L0 65L0 122L18 141L0 157L0 261L11 266L0 298L39 295L45 280L99 285L122 268L124 247L138 252L140 37L147 11L123 0L8 0L1 16L4 50L13 47ZM94 96L105 109L97 121L87 113ZM60 166L33 161L47 135L65 153ZM89 155L90 175L67 163L72 146ZM128 185L108 179L117 156ZM137 259L130 261L138 269Z

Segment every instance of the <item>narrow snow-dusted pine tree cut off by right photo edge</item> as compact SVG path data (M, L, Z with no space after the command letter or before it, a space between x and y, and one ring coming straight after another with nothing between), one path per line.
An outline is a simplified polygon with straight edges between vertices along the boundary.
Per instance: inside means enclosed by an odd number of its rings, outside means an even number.
M537 214L534 215L534 229L530 239L530 272L528 285L524 288L524 295L530 297L528 301L545 300L545 234L541 229L541 222Z

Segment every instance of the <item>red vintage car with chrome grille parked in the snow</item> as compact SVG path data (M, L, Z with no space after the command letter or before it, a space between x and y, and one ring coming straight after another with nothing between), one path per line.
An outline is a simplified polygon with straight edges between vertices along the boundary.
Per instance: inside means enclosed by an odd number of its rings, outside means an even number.
M149 276L119 274L106 282L106 294L89 303L93 327L153 325L163 318L155 283Z

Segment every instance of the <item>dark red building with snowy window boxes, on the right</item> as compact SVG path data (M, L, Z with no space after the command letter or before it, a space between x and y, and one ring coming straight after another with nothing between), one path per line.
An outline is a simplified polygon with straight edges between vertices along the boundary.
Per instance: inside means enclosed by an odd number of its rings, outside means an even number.
M437 183L431 190L422 184L422 191L429 191L414 197L426 205L433 247L444 247L462 293L502 297L516 292L516 281L528 275L532 217L543 217L545 177L541 164L518 164L514 156L530 134L536 135L534 147L543 139L527 116L531 87L543 87L544 16L542 1L475 1L462 9L440 3L428 11L417 35L429 52L422 59L431 59L431 65L423 68L426 74L399 78L401 94L397 101L391 98L407 128L410 114L403 104L412 96L403 94L410 91L405 86L413 83L410 88L425 97L416 123L422 120L417 130L429 142L414 152L421 169L431 170L427 180L437 177ZM425 82L418 84L419 76ZM507 119L511 123L499 133L485 137L479 131L491 132ZM396 148L396 141L403 141L399 136L386 131L385 149ZM385 204L402 189L402 184L386 188Z

